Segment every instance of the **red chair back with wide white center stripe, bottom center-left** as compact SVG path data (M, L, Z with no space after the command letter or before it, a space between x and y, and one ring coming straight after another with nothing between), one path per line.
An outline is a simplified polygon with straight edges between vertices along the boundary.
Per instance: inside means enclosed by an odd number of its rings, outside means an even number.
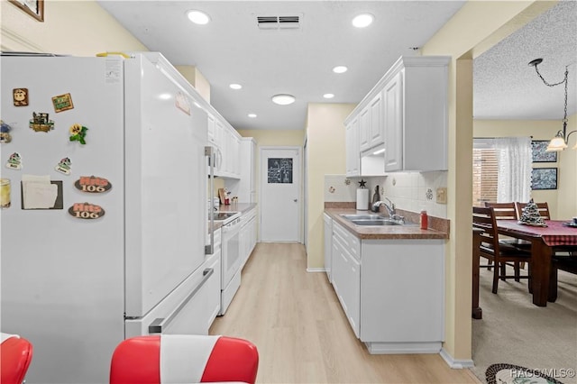
M258 367L256 346L243 339L189 334L136 336L114 350L110 384L254 384Z

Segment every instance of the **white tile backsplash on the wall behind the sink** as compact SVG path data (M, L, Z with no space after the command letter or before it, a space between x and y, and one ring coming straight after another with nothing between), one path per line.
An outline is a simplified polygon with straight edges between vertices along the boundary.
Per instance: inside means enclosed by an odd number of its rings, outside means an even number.
M399 209L420 212L426 209L428 215L447 217L446 204L436 202L436 190L447 185L447 172L399 172L389 176L347 178L344 175L325 175L325 202L354 202L356 190L361 180L369 188L372 200L375 187L379 186L380 197L389 197Z

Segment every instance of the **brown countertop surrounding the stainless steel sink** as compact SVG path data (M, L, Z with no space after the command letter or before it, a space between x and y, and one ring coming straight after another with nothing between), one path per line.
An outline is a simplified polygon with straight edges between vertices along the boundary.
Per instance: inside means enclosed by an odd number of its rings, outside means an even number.
M357 211L352 208L326 208L325 214L331 216L334 222L341 224L350 233L361 239L448 239L448 230L444 228L421 229L418 225L382 225L361 226L355 225L340 215L368 215L371 211ZM387 214L385 214L387 215ZM429 219L431 217L429 216ZM411 220L413 221L413 220ZM434 221L429 220L430 223ZM443 225L442 225L443 226ZM447 225L448 226L448 225Z

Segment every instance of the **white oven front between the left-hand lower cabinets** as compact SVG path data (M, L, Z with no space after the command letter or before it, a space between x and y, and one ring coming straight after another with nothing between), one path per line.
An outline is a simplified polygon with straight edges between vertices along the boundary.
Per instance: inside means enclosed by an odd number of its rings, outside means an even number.
M221 312L224 315L226 309L233 301L234 294L241 286L241 216L234 215L226 220L222 227L222 279L221 279Z

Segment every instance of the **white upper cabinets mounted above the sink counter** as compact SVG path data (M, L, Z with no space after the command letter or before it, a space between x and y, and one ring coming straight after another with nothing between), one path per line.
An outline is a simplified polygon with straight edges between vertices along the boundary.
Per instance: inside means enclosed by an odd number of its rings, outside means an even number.
M399 58L345 119L347 127L359 119L358 150L348 131L346 149L347 160L348 151L361 152L360 176L447 169L449 62L441 56Z

